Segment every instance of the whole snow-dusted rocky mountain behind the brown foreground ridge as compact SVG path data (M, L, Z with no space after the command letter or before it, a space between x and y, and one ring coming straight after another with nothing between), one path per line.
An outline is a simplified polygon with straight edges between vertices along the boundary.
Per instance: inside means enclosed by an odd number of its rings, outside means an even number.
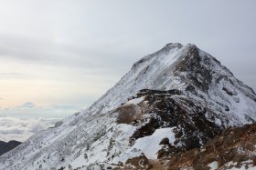
M159 150L168 155L172 148L200 147L223 128L254 123L255 117L256 95L229 69L196 45L168 44L136 62L91 107L0 156L0 169L155 159ZM164 138L169 146L162 148Z

